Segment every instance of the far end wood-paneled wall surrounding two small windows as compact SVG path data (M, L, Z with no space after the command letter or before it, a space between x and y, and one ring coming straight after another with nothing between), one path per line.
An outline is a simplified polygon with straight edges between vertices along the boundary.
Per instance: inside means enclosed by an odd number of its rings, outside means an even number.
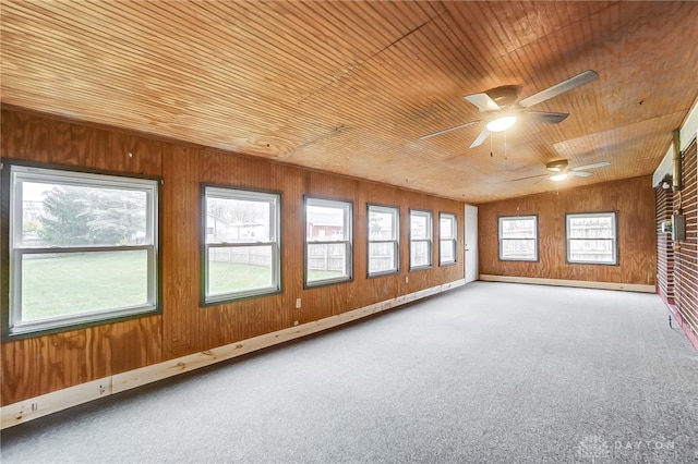
M617 211L618 266L567 264L565 213ZM501 261L500 216L538 215L539 261ZM654 284L654 190L650 176L600 183L478 206L480 273L593 282Z

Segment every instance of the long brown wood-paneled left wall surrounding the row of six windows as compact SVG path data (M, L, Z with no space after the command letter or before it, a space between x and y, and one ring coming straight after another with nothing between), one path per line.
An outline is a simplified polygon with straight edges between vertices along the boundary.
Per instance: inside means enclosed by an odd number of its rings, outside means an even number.
M1 155L109 172L157 175L161 193L163 314L3 342L2 404L346 313L464 278L464 204L210 148L2 110ZM282 292L200 307L202 182L281 192ZM303 195L353 202L354 280L303 289ZM366 203L400 208L400 273L366 278ZM408 271L408 211L458 217L458 262ZM436 239L436 236L435 236ZM3 239L4 240L4 239ZM409 274L409 282L406 277ZM296 309L296 298L302 308Z

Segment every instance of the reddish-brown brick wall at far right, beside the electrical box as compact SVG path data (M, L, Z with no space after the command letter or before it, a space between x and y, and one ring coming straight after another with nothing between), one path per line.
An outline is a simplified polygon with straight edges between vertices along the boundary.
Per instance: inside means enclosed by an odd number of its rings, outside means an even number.
M698 335L698 158L694 138L684 151L682 191L674 193L674 211L686 215L686 240L674 252L674 303L682 318Z

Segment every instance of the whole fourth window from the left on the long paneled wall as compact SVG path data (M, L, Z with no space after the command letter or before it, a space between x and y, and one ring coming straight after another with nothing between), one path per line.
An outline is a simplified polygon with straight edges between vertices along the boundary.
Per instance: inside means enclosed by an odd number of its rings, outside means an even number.
M397 208L369 205L369 277L398 271L399 219Z

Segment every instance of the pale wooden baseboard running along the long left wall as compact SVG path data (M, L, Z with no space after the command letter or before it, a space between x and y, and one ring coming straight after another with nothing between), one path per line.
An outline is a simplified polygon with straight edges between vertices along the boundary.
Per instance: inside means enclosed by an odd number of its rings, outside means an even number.
M406 303L414 302L437 293L442 293L461 285L465 279L424 289L419 292L398 296L396 298L375 303L359 309L330 316L324 319L290 327L272 333L254 337L218 346L200 353L190 354L176 359L166 361L127 373L115 374L101 379L79 386L69 387L51 393L43 394L17 403L0 407L0 429L9 428L28 420L67 410L79 404L87 403L110 394L131 390L151 382L166 379L179 374L189 373L201 367L210 366L222 361L232 359L243 354L274 346L279 343L300 339L323 330L332 329L347 322L381 313Z

